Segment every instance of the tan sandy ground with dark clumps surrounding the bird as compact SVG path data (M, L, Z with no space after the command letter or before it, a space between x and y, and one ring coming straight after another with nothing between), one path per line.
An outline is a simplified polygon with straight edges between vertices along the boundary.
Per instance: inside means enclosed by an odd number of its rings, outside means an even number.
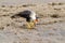
M39 17L31 30L25 18L11 18L27 9ZM65 4L0 5L0 43L65 43Z

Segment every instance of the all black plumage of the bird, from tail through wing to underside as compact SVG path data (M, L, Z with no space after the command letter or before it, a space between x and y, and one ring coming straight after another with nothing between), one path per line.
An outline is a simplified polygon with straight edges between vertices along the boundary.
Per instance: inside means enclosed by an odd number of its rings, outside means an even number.
M26 11L20 12L17 14L11 16L11 18L15 18L16 16L20 16L20 17L26 18L26 22L30 22L30 19L31 19L30 14L31 14L31 11L26 10Z

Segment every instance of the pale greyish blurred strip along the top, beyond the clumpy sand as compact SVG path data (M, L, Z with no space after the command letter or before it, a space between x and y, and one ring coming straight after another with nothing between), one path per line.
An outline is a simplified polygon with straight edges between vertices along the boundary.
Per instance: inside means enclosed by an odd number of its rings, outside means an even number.
M24 4L24 3L49 3L49 2L65 2L65 0L0 0L1 4Z

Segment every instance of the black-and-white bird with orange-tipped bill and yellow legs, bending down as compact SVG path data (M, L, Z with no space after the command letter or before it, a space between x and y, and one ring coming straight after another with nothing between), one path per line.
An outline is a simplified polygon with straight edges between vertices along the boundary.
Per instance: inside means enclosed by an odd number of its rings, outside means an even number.
M20 16L20 17L26 18L26 22L27 22L26 27L28 29L35 28L36 24L38 23L37 15L31 10L25 10L25 11L20 12L18 14L16 14L14 16ZM12 16L12 18L14 18L14 16Z

